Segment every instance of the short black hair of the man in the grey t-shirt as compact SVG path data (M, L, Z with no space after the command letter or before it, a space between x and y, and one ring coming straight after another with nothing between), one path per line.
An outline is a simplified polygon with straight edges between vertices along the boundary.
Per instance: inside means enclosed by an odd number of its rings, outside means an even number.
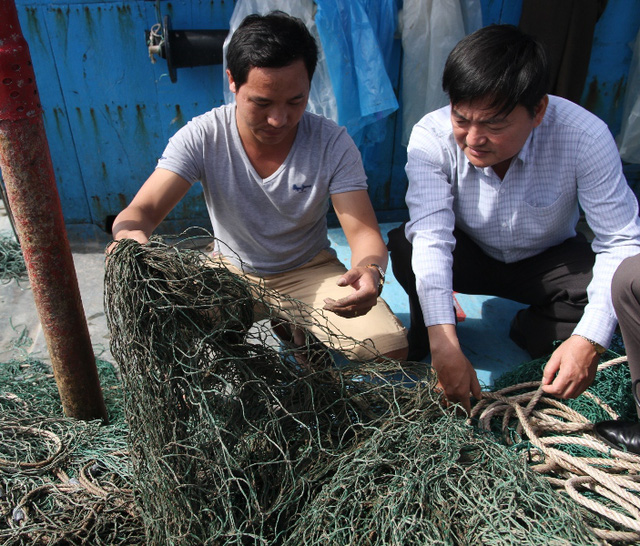
M227 68L237 88L247 82L252 68L282 68L299 59L311 82L318 62L316 41L302 20L282 11L245 17L227 48Z

